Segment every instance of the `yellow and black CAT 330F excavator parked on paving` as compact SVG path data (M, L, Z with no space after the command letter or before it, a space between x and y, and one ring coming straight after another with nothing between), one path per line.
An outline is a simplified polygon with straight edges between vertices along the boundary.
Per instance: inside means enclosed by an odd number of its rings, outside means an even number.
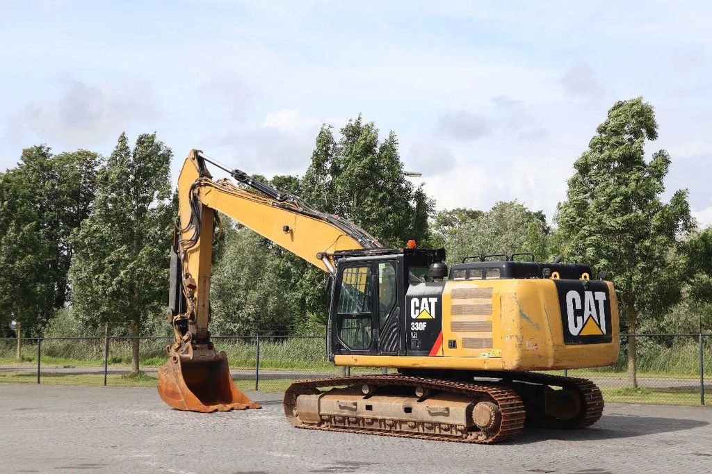
M215 180L206 163L229 173ZM528 426L583 428L603 411L591 381L547 374L601 367L619 352L612 283L587 265L530 254L471 256L384 248L345 218L313 209L203 152L178 179L168 317L175 332L158 392L174 409L256 409L210 340L217 211L330 275L328 356L390 374L295 381L284 395L298 428L496 443ZM535 372L541 371L541 372Z

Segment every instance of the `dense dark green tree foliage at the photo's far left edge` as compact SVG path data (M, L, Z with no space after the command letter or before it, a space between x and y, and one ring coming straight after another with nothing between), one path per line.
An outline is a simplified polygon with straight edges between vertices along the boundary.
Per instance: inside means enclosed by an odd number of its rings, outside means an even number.
M0 323L38 330L68 300L70 233L90 212L98 154L24 149L0 178Z

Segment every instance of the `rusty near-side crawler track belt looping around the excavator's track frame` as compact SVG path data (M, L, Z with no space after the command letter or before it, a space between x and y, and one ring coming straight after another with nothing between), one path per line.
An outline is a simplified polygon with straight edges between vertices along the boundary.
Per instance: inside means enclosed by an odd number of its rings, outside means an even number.
M460 425L448 426L446 423L420 423L424 432L412 433L399 431L399 426L406 421L384 421L386 428L366 428L365 420L348 416L322 416L318 424L302 423L296 414L296 400L300 394L315 394L319 389L337 386L422 386L425 389L451 394L472 396L473 401L492 401L501 412L501 421L491 431L471 431ZM342 431L347 433L375 434L380 436L399 436L403 438L429 439L437 441L456 441L460 443L498 443L517 436L524 427L525 407L515 390L501 384L474 383L470 381L432 379L422 376L406 375L365 375L334 379L295 381L284 394L284 411L297 428L322 431ZM338 418L338 419L335 419ZM427 426L431 425L431 426ZM436 425L436 426L432 426ZM439 432L434 432L439 431Z

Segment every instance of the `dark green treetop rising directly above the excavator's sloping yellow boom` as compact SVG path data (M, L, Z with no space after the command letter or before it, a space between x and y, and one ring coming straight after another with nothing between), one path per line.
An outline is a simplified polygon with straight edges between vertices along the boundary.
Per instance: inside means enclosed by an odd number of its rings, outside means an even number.
M341 129L338 142L330 126L322 127L301 191L315 208L349 219L390 246L429 235L434 203L403 174L395 133L379 141L373 122L360 115Z

